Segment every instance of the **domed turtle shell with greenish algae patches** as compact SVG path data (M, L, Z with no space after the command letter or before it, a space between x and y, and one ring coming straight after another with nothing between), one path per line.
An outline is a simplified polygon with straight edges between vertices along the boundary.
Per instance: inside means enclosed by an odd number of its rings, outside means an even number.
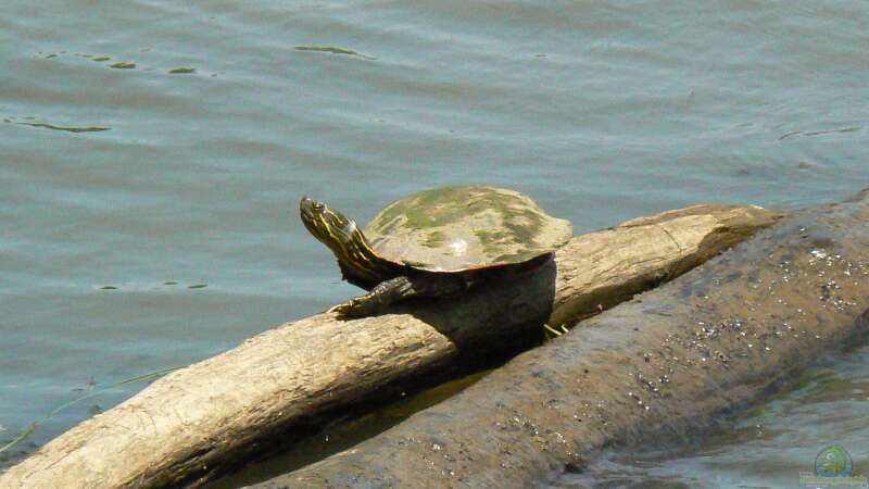
M429 272L524 263L572 237L569 221L495 187L443 187L400 199L364 234L380 258Z

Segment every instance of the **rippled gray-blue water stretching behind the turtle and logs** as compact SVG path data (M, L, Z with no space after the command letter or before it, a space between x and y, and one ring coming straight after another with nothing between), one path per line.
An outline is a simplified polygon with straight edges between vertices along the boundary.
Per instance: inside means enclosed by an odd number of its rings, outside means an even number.
M577 233L841 200L869 185L867 25L859 0L5 1L0 442L355 293L303 193L364 222L486 183Z

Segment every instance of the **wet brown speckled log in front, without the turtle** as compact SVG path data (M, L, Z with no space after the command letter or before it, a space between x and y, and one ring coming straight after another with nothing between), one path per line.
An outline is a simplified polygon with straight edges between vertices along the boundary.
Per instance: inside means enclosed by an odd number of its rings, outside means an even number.
M773 226L381 435L255 487L546 487L603 449L692 441L867 334L869 190Z

